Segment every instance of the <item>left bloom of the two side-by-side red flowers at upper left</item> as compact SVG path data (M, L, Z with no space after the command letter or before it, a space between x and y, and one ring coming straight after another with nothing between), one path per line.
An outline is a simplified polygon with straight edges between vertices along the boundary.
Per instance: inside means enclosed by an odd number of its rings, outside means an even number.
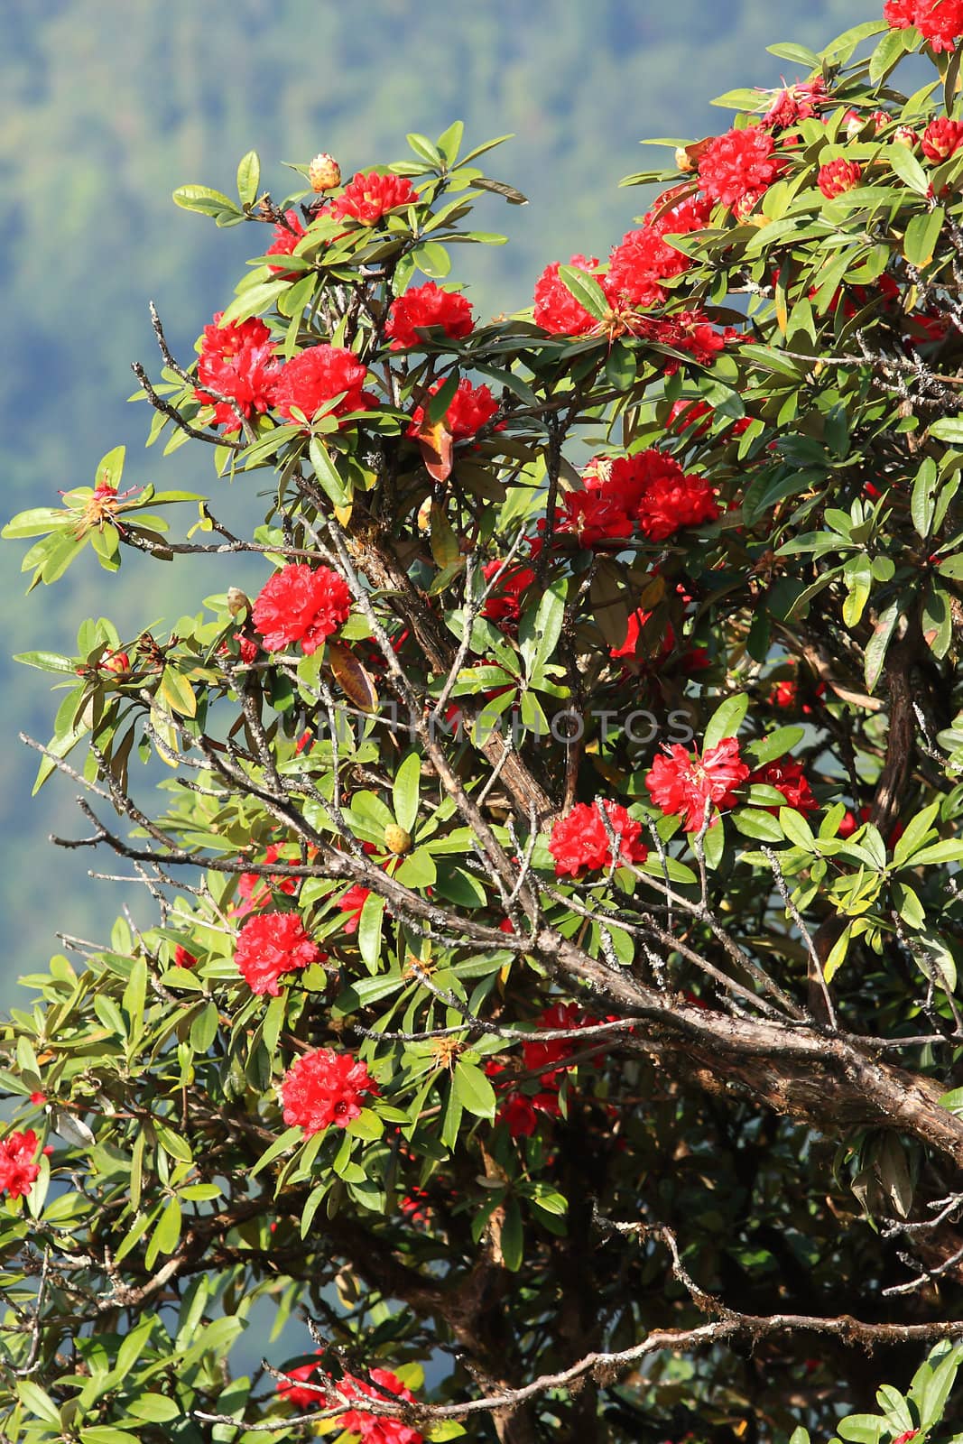
M212 323L204 328L198 361L201 386L193 394L204 406L214 407L212 425L224 426L230 433L241 425L238 412L250 419L274 404L282 367L274 355L271 334L263 321L251 316L248 321L219 326L222 315L224 312L218 310ZM230 397L235 404L218 400L205 387Z

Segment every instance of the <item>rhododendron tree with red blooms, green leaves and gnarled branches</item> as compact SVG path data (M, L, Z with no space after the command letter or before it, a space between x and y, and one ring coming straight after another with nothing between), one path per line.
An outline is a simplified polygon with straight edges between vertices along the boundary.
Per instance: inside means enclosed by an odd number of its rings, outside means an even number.
M175 193L170 459L6 529L178 580L22 654L126 902L0 1025L4 1441L959 1437L962 39L774 46L497 319L459 123Z

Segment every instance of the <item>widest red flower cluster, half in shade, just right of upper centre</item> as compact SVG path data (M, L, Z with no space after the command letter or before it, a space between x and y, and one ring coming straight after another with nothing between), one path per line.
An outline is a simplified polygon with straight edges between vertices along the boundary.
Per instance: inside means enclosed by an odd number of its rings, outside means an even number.
M650 542L666 542L681 527L719 517L709 481L687 475L654 446L635 456L593 458L583 482L583 491L563 497L556 514L556 530L578 536L579 546L629 537L635 529Z

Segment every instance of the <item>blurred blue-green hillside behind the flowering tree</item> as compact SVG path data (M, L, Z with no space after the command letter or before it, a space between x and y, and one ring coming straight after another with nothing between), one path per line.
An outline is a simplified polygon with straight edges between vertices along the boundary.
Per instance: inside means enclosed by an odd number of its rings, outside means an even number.
M232 192L238 157L256 147L263 183L280 196L296 188L280 162L318 150L334 152L349 176L401 159L409 130L433 139L462 118L468 144L514 131L487 165L530 204L487 201L481 227L510 244L458 253L476 313L513 310L530 305L549 260L605 256L629 228L642 196L618 180L661 159L640 149L642 136L725 129L729 113L713 110L712 97L798 78L767 45L819 49L879 9L875 0L6 0L4 520L90 484L118 442L128 448L128 485L224 488L205 469L205 448L166 461L144 452L150 414L126 404L130 362L157 370L147 300L191 360L201 326L263 244L260 230L218 231L176 209L176 185ZM263 514L240 487L224 504L218 497L218 514L225 508L251 524ZM231 576L214 579L179 567L175 588L172 570L146 557L117 576L84 557L55 588L25 596L23 550L0 547L0 1006L25 1005L14 980L61 950L58 930L103 939L121 902L117 887L88 878L90 853L46 842L51 832L79 835L82 819L75 788L58 780L30 801L38 758L16 736L45 741L56 699L46 674L10 654L72 653L87 615L108 615L133 637L227 580L247 580L234 562Z

